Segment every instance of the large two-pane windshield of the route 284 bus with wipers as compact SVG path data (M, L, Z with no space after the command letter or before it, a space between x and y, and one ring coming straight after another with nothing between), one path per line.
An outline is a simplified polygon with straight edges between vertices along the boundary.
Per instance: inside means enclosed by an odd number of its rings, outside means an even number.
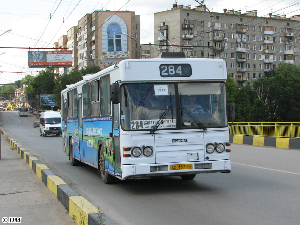
M226 127L225 99L224 82L124 84L121 126L126 131Z

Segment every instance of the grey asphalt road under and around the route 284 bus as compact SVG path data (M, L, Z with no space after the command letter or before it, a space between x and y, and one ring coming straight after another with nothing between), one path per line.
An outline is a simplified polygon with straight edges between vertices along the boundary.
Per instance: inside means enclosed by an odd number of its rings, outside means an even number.
M34 116L0 112L2 128L119 225L300 224L300 151L232 144L232 172L104 184L72 167L62 138L40 137Z

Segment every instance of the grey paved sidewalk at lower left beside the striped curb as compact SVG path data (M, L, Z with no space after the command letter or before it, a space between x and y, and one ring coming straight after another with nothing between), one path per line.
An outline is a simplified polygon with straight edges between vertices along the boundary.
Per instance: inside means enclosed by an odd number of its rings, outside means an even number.
M0 225L3 217L21 224L76 224L56 196L1 135ZM6 223L9 224L9 223Z

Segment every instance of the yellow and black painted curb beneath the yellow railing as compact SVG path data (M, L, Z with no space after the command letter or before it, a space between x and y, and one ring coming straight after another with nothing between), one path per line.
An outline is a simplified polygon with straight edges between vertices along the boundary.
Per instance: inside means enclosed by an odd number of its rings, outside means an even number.
M235 144L269 146L285 149L300 149L299 138L261 137L248 135L229 135L229 142Z

